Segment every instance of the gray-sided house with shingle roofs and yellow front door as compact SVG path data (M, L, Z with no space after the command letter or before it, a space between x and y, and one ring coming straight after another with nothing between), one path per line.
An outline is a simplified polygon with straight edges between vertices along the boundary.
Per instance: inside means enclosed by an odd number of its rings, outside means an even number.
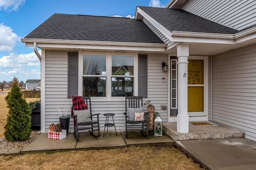
M124 96L143 95L180 133L188 121L210 120L256 141L255 12L251 0L170 0L165 8L138 6L135 19L52 15L22 38L41 60L42 132L72 95L92 96L101 127L103 113L115 113L124 129ZM121 66L129 75L113 74Z

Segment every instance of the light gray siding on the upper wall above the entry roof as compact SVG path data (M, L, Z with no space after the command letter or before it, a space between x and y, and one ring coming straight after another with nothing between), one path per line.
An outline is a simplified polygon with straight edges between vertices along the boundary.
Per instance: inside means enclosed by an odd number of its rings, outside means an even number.
M190 0L182 9L236 30L256 24L255 0Z

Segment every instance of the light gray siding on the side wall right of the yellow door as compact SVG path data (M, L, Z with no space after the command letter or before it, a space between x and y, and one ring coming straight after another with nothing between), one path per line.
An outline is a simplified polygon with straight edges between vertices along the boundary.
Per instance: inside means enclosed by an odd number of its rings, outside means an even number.
M213 121L256 141L256 45L213 57Z

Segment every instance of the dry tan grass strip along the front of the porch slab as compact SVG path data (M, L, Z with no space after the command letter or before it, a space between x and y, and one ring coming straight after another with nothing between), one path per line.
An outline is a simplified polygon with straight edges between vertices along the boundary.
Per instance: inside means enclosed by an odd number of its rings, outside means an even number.
M3 169L202 169L186 154L169 146L0 156L0 164Z

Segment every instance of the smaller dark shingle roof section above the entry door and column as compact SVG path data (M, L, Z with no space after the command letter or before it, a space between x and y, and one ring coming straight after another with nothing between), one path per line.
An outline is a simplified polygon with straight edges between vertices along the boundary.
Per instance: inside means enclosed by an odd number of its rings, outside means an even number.
M169 31L234 34L237 30L181 9L138 6Z

